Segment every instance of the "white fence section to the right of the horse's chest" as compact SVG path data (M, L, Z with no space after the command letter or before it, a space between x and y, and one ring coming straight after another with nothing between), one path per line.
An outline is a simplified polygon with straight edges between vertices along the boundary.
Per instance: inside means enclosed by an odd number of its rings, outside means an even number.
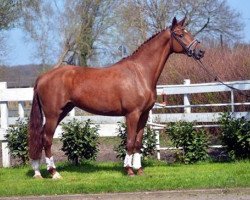
M245 81L234 81L234 82L225 82L226 85L229 85L233 88L241 90L243 93L247 90L250 90L250 80ZM190 80L184 80L183 85L158 85L157 86L157 94L158 95L183 95L183 105L165 105L161 103L156 103L155 108L183 108L183 113L166 113L166 114L156 114L153 115L153 123L156 129L161 130L164 126L159 125L159 123L169 123L169 122L177 122L177 121L187 121L187 122L202 122L203 125L197 125L196 127L218 127L217 124L218 119L221 116L221 112L201 112L201 113L192 113L192 108L202 108L202 107L227 107L228 111L232 113L232 116L235 118L244 117L247 120L250 120L250 112L249 110L245 112L235 112L236 106L249 106L249 95L245 96L245 102L235 102L235 93L236 90L233 90L226 85L221 83L200 83L200 84L190 84ZM213 104L191 104L191 94L198 93L215 93L215 92L230 92L230 99L228 99L227 103L213 103ZM207 123L204 125L204 123ZM158 127L158 128L157 128ZM157 130L157 131L158 131ZM157 133L157 158L160 159L160 150L172 149L172 147L160 147L159 133ZM210 147L221 147L221 145L212 145Z

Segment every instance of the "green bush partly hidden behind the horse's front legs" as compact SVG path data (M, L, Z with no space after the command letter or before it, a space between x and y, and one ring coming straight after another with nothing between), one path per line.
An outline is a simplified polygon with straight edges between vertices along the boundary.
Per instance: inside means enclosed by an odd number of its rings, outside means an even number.
M142 158L147 158L155 153L156 149L156 133L149 127L145 128L143 140L142 140ZM118 122L118 137L120 138L120 144L114 147L117 155L116 157L124 160L126 156L126 144L127 144L127 126L125 123Z

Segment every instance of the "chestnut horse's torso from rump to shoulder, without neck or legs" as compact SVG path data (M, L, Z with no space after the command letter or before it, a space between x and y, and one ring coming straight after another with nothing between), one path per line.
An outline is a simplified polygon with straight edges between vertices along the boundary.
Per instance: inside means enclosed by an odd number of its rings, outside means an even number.
M95 114L125 115L148 101L138 76L133 66L123 64L106 68L63 66L42 75L37 87L46 107L61 109L70 102Z

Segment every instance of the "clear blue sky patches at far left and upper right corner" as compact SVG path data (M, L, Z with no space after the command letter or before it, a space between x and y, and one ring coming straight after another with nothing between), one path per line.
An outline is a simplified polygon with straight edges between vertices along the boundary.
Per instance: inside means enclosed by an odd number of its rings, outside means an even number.
M242 15L242 20L245 23L243 41L250 43L250 0L227 0L230 7L238 11ZM34 60L34 46L24 41L24 32L20 29L13 29L8 32L8 46L11 49L9 59L6 64L9 66L38 64Z

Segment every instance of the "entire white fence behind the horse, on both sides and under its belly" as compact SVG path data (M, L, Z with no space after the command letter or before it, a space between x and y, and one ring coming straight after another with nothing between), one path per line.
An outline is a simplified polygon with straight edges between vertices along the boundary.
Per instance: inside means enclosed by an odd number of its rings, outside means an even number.
M237 88L239 90L250 90L250 80L247 81L235 81L235 82L227 82L226 84ZM195 93L210 93L210 92L230 92L230 99L227 103L218 103L218 104L191 104L190 95ZM180 94L183 95L183 105L163 105L161 103L156 103L155 108L183 108L183 113L164 113L164 114L151 114L149 119L149 125L155 127L158 131L164 125L159 125L161 123L168 122L176 122L176 121L196 121L196 122L207 122L207 123L216 123L220 113L219 112L211 112L211 113L192 113L192 108L197 107L230 107L231 112L235 115L235 117L245 117L250 120L250 112L234 112L235 106L239 105L250 105L250 102L235 102L234 90L222 85L220 83L202 83L202 84L190 84L190 80L186 79L183 85L159 85L157 86L157 94L158 95L175 95ZM3 166L10 166L10 156L9 150L7 148L7 142L5 140L6 129L9 125L15 123L17 118L24 118L24 102L32 101L33 97L33 88L15 88L8 89L7 83L0 83L0 109L1 109L1 127L0 127L0 141L2 141L2 159ZM17 117L9 117L9 109L8 102L18 102L18 116ZM72 117L86 120L91 119L97 124L100 124L100 136L115 136L117 122L124 121L123 117L107 117L107 116L75 116L74 110L70 113L68 117L65 118L64 121L72 119ZM211 124L209 126L212 126ZM60 127L56 130L55 137L59 137L61 133ZM159 132L158 132L158 155L160 158L159 151L160 141L159 141Z

